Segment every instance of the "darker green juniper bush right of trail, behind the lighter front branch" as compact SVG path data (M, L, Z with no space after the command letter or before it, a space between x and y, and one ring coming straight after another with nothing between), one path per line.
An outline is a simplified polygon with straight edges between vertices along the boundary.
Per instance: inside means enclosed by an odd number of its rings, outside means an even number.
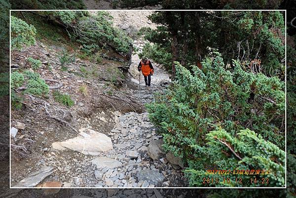
M279 147L274 152L284 150L285 84L278 77L245 72L235 61L233 71L227 71L218 53L202 63L202 70L192 66L190 72L178 62L175 64L173 85L164 95L156 95L155 102L146 105L149 119L163 135L166 151L183 158L189 169L197 171L204 170L207 164L235 167L239 162L226 163L221 156L214 158L215 152L223 151L206 144L207 134L220 128L229 137L240 136L238 131L249 128L266 141L265 145L272 143ZM246 138L240 141L247 144ZM253 165L259 168L256 163ZM278 168L282 173L281 167ZM197 185L193 183L195 179L189 178L191 185ZM275 182L280 185L280 174L277 179Z

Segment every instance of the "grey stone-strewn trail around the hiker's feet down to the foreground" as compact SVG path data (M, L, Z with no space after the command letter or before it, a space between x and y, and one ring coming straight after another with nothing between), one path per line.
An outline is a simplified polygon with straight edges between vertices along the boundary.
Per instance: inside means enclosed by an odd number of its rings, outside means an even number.
M139 62L137 55L133 56L133 62ZM131 70L136 67L137 64L132 64ZM163 92L170 83L166 71L154 68L151 87L144 86L144 82L139 86L137 79L130 79L130 92L139 103L150 103L153 94ZM108 121L104 115L99 114L101 122L113 122L107 134L81 127L78 136L53 142L45 151L48 162L39 161L46 166L16 186L35 186L44 178L61 181L63 187L185 186L179 171L183 167L181 160L164 153L162 136L156 134L147 112L114 111L113 120Z

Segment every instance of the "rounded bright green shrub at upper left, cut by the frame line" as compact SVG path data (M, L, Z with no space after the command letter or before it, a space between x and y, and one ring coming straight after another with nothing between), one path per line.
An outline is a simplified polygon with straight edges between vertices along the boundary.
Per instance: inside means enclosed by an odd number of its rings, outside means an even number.
M35 44L36 29L33 25L11 16L11 48L22 49L24 45Z

